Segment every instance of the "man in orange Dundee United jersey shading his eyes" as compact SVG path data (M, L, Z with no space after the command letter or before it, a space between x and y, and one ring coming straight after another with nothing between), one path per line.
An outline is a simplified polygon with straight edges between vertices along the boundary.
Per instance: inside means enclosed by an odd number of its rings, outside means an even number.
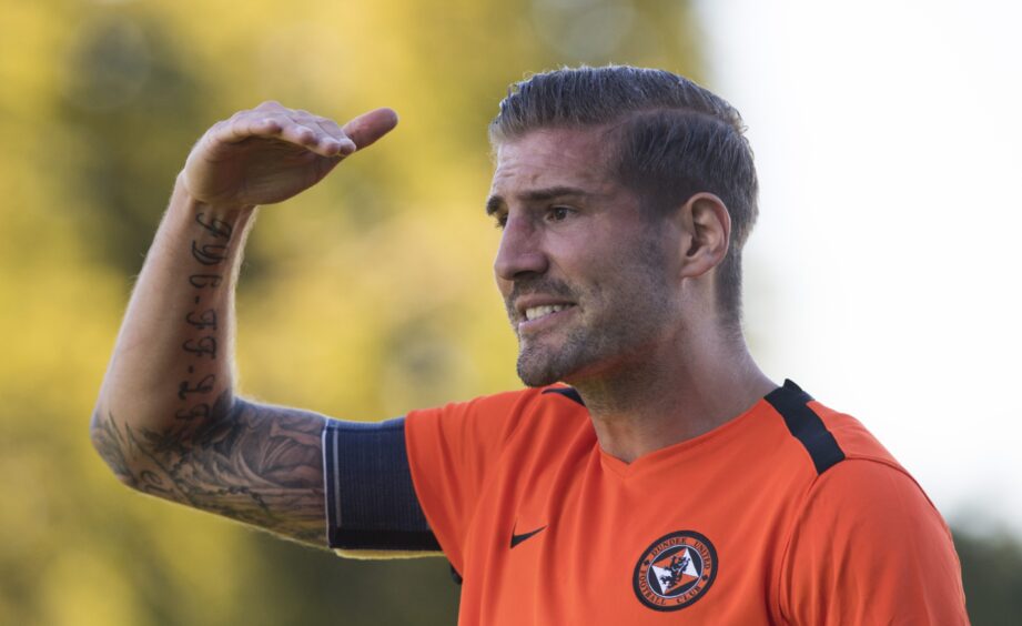
M395 124L270 102L199 141L93 418L122 481L313 545L325 523L342 553L443 551L462 624L968 622L914 481L750 356L751 151L737 111L668 72L538 74L490 128L494 269L529 388L380 425L234 395L255 208Z

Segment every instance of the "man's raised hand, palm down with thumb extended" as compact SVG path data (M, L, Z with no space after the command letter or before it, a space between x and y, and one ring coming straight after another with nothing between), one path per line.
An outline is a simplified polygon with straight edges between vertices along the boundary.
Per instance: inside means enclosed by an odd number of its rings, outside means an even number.
M391 109L363 113L342 128L307 111L263 102L213 124L189 154L181 181L193 199L210 204L281 202L323 180L396 124Z

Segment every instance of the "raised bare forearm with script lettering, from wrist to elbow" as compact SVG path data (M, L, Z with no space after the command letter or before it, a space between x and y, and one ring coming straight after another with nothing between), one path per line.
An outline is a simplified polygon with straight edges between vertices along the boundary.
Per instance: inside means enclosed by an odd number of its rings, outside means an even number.
M179 179L100 390L94 441L110 420L188 440L214 412L230 410L234 283L254 211L196 202ZM128 468L118 465L144 461L136 446L115 461L100 452L122 479Z

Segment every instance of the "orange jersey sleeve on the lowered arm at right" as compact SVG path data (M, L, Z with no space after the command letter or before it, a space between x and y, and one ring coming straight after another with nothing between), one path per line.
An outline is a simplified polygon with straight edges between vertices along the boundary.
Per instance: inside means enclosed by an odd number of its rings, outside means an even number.
M943 518L910 476L866 460L817 479L791 534L780 607L790 624L968 624Z

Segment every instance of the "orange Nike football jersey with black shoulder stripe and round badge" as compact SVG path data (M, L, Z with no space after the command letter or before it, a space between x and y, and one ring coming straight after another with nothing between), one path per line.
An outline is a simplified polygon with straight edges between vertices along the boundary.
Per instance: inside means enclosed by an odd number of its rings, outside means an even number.
M853 417L793 383L630 464L574 390L407 416L459 624L968 624L950 532Z

